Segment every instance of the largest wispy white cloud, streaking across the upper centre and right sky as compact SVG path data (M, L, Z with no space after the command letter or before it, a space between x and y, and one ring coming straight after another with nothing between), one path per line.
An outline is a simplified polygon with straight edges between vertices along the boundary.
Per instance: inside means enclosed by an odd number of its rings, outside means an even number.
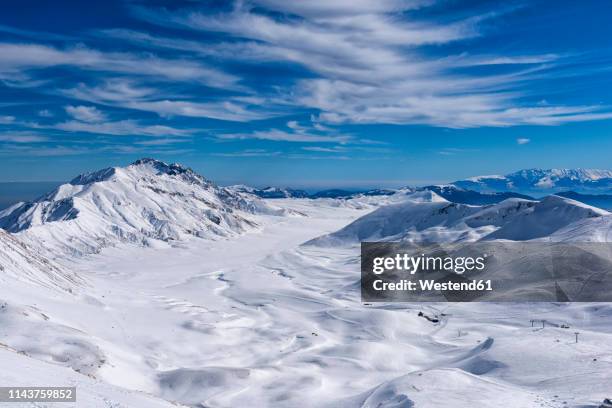
M607 119L606 107L524 106L519 98L542 73L567 55L471 55L440 58L422 46L484 35L480 24L500 13L464 19L417 20L405 13L433 1L314 0L236 2L230 12L136 8L149 22L221 32L234 41L210 44L154 38L131 32L132 41L190 50L200 55L303 65L318 77L286 91L287 103L318 110L323 123L425 124L451 128L557 125ZM261 13L258 7L271 13ZM502 10L503 12L510 11ZM272 17L281 15L282 18ZM457 68L507 65L504 74L459 73ZM271 102L271 101L269 101ZM552 109L551 109L552 108Z

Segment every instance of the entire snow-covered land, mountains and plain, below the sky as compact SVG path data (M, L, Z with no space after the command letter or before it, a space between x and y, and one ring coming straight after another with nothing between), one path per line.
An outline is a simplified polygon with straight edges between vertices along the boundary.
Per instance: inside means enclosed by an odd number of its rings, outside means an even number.
M84 408L598 407L612 304L361 302L364 240L612 240L606 209L485 191L612 173L515 174L342 198L153 159L78 176L0 212L0 384Z

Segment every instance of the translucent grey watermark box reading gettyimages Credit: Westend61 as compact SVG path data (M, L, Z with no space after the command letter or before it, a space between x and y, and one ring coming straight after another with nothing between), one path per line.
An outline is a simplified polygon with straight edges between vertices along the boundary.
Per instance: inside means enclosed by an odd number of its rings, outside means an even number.
M364 302L612 301L609 243L361 243Z

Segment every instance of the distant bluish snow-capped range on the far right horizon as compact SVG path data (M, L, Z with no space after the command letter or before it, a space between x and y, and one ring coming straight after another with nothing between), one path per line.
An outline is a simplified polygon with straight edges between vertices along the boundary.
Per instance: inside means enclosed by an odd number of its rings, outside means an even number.
M452 183L475 191L516 191L547 194L573 190L595 192L612 190L612 170L527 169L505 176L477 176Z

